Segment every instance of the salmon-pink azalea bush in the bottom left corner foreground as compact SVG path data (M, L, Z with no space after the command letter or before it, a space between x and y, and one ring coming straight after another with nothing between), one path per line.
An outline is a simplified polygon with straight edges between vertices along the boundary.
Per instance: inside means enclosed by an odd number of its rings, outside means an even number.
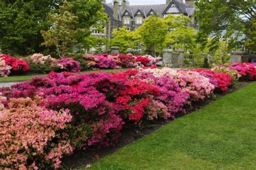
M48 110L40 100L13 98L0 111L0 169L58 168L63 155L72 153L64 132L69 111Z

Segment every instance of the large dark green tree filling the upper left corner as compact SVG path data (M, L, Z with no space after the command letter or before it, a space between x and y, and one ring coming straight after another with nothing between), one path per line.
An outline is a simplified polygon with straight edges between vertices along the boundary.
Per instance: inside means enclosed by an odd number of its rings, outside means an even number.
M0 49L5 53L28 55L42 52L40 31L49 28L47 15L61 1L0 1Z

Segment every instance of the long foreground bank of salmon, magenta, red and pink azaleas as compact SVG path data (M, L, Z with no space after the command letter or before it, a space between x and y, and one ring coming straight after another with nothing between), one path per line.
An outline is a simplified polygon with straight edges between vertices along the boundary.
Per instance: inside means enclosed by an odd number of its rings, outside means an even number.
M231 85L228 73L165 67L114 74L51 72L2 87L0 168L58 168L74 149L115 145L123 128L174 119Z

